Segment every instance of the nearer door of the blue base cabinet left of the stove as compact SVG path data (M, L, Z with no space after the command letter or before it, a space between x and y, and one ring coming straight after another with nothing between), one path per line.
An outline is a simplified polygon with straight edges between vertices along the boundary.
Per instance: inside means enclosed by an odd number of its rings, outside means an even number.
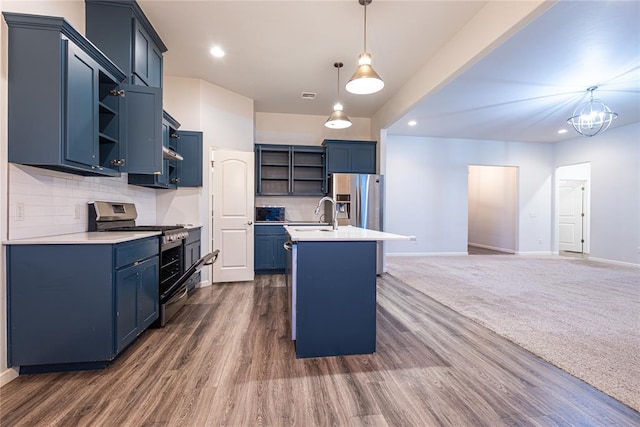
M116 351L118 353L138 336L139 271L138 266L132 265L116 273Z

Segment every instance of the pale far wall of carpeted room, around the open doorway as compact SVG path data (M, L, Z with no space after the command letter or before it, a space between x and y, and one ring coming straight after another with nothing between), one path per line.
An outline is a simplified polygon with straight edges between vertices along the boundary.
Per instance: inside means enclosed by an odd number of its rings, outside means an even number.
M387 254L467 252L471 164L519 168L518 252L550 253L552 147L388 135L385 230L417 240L387 242Z

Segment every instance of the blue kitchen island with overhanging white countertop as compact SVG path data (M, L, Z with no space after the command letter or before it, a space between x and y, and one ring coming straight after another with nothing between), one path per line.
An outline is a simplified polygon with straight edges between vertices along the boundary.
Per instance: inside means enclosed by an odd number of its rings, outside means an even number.
M298 358L376 351L376 242L411 236L345 226L285 226Z

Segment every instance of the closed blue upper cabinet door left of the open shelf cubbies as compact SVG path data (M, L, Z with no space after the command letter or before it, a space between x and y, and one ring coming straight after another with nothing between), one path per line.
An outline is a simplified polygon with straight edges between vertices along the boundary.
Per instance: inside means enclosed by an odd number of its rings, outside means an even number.
M65 159L97 168L99 66L67 41Z

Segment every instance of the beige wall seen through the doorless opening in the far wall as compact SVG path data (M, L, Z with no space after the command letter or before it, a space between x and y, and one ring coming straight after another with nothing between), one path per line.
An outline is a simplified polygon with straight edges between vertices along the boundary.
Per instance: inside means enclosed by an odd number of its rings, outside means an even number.
M469 245L516 252L518 168L469 166Z

